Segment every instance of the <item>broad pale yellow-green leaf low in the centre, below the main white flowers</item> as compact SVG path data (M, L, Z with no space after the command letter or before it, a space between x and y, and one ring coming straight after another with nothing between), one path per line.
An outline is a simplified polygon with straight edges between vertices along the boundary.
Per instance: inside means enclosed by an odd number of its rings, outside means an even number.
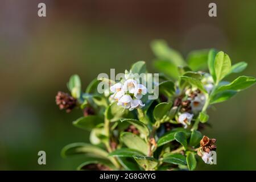
M125 143L128 148L138 150L144 155L147 155L148 145L146 144L146 142L144 142L142 138L129 132L123 132L120 137L122 142Z

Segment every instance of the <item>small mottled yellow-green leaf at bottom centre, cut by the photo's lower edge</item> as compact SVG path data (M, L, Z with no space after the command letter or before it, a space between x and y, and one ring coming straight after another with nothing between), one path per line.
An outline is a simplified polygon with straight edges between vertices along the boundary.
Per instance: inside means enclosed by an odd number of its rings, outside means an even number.
M158 161L155 158L143 156L143 155L134 155L133 158L143 169L152 170L158 165Z

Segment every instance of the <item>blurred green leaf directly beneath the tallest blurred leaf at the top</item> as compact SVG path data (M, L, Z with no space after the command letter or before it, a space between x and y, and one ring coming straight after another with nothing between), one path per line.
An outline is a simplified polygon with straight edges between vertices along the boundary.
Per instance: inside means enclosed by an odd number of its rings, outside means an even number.
M159 71L167 76L177 79L179 77L179 71L177 66L170 61L165 60L155 60L153 62L154 67Z

